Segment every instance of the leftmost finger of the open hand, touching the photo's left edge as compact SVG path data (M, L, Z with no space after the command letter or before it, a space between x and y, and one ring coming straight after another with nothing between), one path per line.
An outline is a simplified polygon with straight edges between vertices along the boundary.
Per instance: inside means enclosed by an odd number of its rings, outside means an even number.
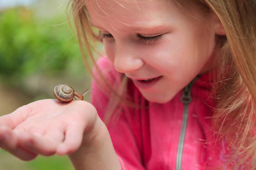
M16 135L6 127L0 128L0 147L22 160L32 160L37 156L18 145Z

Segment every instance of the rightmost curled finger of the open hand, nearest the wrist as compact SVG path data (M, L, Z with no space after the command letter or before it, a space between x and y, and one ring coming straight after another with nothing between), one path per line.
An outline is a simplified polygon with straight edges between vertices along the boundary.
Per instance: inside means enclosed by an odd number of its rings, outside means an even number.
M70 125L65 133L65 140L57 147L58 155L72 154L81 146L84 128L80 124Z

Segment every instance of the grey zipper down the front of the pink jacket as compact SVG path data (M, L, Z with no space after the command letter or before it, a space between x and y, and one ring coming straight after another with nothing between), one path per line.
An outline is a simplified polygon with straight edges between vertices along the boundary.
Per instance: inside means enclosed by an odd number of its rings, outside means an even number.
M185 132L186 132L187 123L188 123L188 105L189 103L192 102L191 88L196 79L197 77L193 79L192 82L190 82L186 87L183 88L183 94L180 97L180 102L184 104L184 111L183 111L182 125L180 130L179 144L177 148L176 170L181 170Z

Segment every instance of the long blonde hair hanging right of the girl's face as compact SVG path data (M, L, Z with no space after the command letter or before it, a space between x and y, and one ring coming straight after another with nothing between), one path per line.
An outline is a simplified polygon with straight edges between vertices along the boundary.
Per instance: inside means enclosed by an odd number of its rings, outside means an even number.
M256 2L205 0L205 3L226 32L226 42L219 50L214 126L225 138L229 163L255 169Z

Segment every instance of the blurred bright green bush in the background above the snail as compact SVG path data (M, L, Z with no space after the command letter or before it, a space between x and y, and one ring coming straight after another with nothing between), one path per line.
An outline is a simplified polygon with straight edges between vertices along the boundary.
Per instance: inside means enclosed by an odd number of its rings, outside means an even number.
M5 80L37 73L57 75L74 62L73 71L84 69L79 60L79 46L68 24L43 24L24 7L0 14L0 75Z

